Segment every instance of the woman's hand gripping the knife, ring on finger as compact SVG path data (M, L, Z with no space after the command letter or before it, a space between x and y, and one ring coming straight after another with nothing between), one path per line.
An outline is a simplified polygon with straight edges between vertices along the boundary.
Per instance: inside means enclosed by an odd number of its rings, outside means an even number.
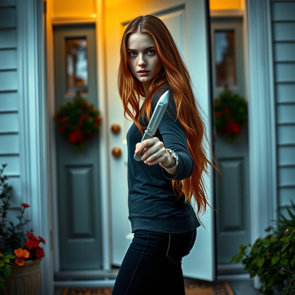
M164 143L158 137L152 137L137 142L135 145L135 153L142 153L141 160L148 165L159 163L160 166L171 165L173 160L171 155L166 151ZM157 156L155 157L156 154Z

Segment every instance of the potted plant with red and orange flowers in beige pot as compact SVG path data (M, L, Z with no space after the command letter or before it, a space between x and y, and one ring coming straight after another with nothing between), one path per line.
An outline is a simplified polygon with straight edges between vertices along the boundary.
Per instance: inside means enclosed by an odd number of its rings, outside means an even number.
M8 177L2 175L7 164L0 168L0 290L6 295L35 295L40 287L40 262L44 257L40 243L45 240L26 230L24 226L30 219L24 219L24 212L29 204L21 203L17 224L7 222L10 207L10 190Z

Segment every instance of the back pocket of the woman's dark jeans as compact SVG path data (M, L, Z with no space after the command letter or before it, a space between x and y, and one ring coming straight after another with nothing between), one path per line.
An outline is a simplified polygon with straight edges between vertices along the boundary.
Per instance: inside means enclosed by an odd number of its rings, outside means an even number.
M169 244L166 256L174 263L178 263L189 254L196 240L196 229L190 232L169 234Z

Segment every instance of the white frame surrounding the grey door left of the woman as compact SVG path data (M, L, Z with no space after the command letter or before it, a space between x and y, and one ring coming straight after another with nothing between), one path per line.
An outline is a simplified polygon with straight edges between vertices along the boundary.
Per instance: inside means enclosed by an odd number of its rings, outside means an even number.
M100 196L101 196L101 215L102 219L102 253L103 253L103 270L102 271L89 271L83 273L88 274L101 274L111 271L111 226L110 226L110 214L109 214L109 128L108 118L106 117L106 81L105 76L100 73L105 73L105 58L104 58L104 14L103 14L103 0L95 1L96 14L85 16L83 18L74 17L54 17L53 16L53 1L43 0L47 2L47 16L46 16L46 82L47 82L47 116L48 116L48 137L49 137L49 183L50 183L50 202L52 210L50 212L52 218L52 239L53 239L53 271L62 275L73 275L75 272L60 272L60 259L59 259L59 238L58 238L58 207L57 207L57 175L56 175L56 152L55 152L55 125L51 118L53 118L55 112L55 96L54 96L54 57L53 57L53 26L54 25L72 25L72 24L95 24L96 29L96 71L97 71L97 93L98 93L98 105L100 106L100 112L103 116L104 124L101 125L99 134L99 163L100 163ZM79 272L79 277L82 277ZM69 281L57 281L55 286L68 286Z

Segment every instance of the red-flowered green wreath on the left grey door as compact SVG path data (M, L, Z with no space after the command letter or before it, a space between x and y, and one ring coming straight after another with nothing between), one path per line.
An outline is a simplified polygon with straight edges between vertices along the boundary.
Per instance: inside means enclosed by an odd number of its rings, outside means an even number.
M99 114L100 111L94 109L93 104L89 105L77 91L73 102L60 106L55 112L54 121L72 148L81 152L85 148L86 140L90 140L99 132L102 121Z

